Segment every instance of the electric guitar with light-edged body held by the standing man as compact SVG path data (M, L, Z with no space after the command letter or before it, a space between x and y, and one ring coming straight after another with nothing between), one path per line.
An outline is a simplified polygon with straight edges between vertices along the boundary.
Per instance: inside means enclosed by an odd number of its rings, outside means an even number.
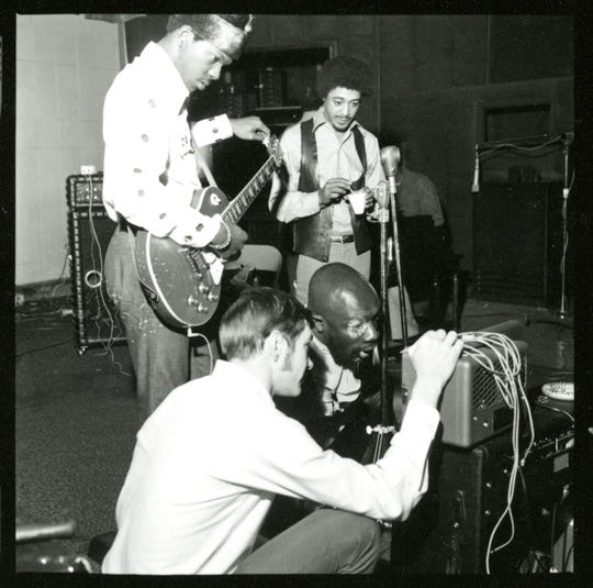
M280 167L278 138L270 137L269 157L247 186L230 203L217 187L195 192L191 206L202 214L221 214L236 224ZM141 286L160 319L171 326L191 329L205 324L219 306L223 259L215 251L182 246L147 231L136 234L135 257Z

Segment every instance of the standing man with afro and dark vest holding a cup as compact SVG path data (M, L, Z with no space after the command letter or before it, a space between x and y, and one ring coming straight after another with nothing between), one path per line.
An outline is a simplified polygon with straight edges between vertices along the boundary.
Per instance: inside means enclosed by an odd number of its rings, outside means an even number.
M311 276L326 263L342 262L366 277L370 274L367 213L374 207L373 190L384 180L377 137L356 120L370 86L365 63L348 56L329 59L317 73L323 104L280 138L286 177L275 178L269 209L288 223L290 253L295 256L288 280L302 303ZM357 190L366 193L360 214L348 197Z

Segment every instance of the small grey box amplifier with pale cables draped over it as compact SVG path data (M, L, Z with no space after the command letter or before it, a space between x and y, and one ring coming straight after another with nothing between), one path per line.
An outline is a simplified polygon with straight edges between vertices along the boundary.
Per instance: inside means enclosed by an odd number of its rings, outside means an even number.
M527 344L515 341L522 357L521 379L526 386ZM481 351L500 367L492 350ZM402 388L404 402L416 380L416 373L406 352L402 354ZM443 443L458 447L471 447L490 439L513 424L513 409L502 397L494 375L469 356L461 356L440 399Z

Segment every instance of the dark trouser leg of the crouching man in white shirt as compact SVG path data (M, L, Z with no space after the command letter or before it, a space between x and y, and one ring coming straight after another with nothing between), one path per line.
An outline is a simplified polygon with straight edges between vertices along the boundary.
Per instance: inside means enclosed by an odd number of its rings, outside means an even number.
M371 574L379 541L373 520L318 509L257 548L235 574Z

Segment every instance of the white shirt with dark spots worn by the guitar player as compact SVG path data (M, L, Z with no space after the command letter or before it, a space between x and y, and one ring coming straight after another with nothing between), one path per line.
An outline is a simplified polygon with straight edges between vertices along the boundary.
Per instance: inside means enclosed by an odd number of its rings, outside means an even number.
M103 107L103 202L114 221L121 215L156 236L203 247L219 232L220 215L210 218L190 206L201 184L187 98L179 71L155 43L118 74ZM208 133L198 123L210 143L232 135L226 115L206 124Z

